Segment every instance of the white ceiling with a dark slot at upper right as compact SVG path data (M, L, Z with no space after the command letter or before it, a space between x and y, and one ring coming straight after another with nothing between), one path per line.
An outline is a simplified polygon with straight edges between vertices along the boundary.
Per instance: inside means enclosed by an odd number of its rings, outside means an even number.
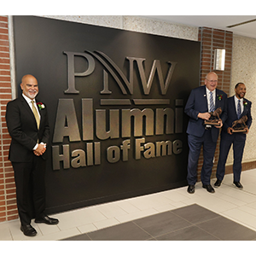
M188 26L208 26L227 30L236 35L256 38L256 15L144 15L143 17ZM248 23L241 24L247 21Z

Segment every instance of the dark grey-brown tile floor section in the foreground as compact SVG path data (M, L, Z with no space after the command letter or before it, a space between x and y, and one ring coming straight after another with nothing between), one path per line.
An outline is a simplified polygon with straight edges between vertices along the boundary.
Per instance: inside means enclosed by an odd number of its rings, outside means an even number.
M255 241L256 231L196 204L64 241Z

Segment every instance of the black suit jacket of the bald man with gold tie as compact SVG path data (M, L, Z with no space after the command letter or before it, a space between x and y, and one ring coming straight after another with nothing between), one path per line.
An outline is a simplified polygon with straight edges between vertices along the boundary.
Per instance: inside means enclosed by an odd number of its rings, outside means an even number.
M49 121L47 109L39 110L41 115L38 130L37 121L23 96L8 102L6 107L6 123L12 142L9 148L9 160L13 162L32 161L37 142L49 143ZM42 156L46 157L46 152Z

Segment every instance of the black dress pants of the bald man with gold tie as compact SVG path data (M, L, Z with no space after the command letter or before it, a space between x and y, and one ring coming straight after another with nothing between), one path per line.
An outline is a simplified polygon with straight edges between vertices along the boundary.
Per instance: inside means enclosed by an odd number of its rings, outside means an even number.
M32 156L31 162L12 162L15 170L16 199L21 225L31 223L45 209L45 160Z

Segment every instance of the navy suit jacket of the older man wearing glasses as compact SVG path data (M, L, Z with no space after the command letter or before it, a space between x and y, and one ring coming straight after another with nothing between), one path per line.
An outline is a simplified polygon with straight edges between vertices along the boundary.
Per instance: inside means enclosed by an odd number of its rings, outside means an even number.
M227 119L227 95L223 90L216 89L216 100L215 108L221 108L222 113L220 118L224 124ZM196 137L202 137L205 132L205 125L203 125L204 120L197 117L198 113L208 112L207 105L207 87L206 85L197 87L191 90L188 102L185 106L184 112L189 115L189 125L187 128L187 133L192 134ZM219 129L212 126L212 140L217 142Z

